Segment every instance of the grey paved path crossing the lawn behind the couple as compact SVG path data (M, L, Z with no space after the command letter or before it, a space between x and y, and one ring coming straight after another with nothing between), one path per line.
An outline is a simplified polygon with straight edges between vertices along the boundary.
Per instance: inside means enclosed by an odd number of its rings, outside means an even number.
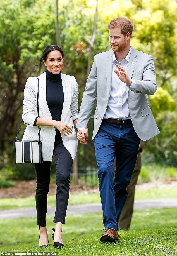
M148 208L161 208L161 207L177 207L177 198L175 199L156 199L135 201L134 209L148 209ZM84 205L69 205L66 214L79 214L102 212L101 203L92 203ZM49 207L47 215L54 215L55 207ZM36 217L35 208L14 209L0 211L0 219L15 219L20 217Z

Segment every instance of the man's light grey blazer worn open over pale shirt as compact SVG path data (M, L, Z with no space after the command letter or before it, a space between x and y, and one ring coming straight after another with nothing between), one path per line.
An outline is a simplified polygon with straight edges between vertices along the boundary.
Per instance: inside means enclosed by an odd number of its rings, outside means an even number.
M76 128L85 128L97 100L94 115L93 137L97 134L109 102L111 90L113 51L95 55L92 69L83 93ZM116 67L115 67L116 69ZM133 127L141 140L149 140L159 133L148 105L146 95L156 92L156 75L153 57L131 48L128 76L135 80L135 88L127 87L127 103ZM125 85L126 86L126 85Z

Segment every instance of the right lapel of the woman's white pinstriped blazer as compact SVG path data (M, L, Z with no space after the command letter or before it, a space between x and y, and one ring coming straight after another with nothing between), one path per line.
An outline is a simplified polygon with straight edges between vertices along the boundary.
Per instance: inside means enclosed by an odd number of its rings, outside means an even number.
M61 122L63 122L64 119L66 118L66 115L71 105L71 83L68 81L67 76L62 73L61 73L61 80L62 80L63 95L64 95L63 109L61 113Z

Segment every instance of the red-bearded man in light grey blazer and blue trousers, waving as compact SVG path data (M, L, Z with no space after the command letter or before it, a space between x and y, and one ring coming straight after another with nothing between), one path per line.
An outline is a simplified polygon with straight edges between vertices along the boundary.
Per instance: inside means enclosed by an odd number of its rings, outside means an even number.
M76 126L78 139L87 143L84 131L97 100L92 139L105 227L101 242L118 241L118 220L128 195L126 187L135 167L140 139L148 140L159 133L145 96L157 89L153 57L131 47L133 27L133 22L124 17L109 23L112 50L94 57Z

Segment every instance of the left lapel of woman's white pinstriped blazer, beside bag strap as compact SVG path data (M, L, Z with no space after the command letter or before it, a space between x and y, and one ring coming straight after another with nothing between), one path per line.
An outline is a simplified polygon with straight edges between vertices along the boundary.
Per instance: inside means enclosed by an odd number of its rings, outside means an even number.
M46 72L39 77L39 108L44 112L46 119L52 119L46 100ZM40 90L41 89L41 90Z

